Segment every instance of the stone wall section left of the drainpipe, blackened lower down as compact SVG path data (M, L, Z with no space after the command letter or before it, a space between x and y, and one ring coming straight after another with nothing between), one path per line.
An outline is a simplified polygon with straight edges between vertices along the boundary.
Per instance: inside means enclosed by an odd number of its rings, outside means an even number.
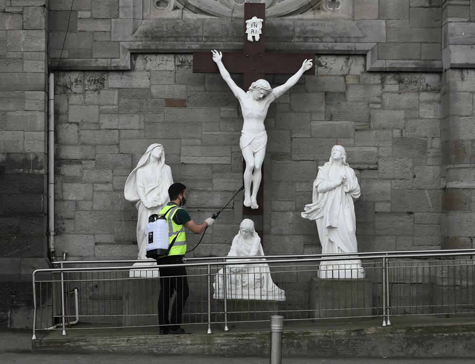
M45 1L0 1L0 326L31 326L46 266Z

